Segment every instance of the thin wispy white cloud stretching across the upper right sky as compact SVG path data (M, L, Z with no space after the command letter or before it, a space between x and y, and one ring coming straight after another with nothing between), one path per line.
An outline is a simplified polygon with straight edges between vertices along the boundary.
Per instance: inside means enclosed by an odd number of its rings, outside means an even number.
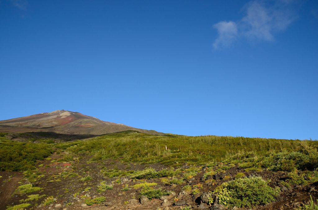
M260 0L247 3L243 7L245 16L239 21L221 21L213 26L218 31L214 49L230 46L241 37L273 41L276 33L285 30L297 18L293 8L293 0L277 0L272 4Z

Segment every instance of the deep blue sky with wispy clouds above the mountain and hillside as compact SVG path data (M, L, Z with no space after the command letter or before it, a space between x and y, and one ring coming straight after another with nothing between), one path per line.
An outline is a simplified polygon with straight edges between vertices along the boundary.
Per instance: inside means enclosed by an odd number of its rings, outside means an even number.
M317 1L0 1L0 120L318 139Z

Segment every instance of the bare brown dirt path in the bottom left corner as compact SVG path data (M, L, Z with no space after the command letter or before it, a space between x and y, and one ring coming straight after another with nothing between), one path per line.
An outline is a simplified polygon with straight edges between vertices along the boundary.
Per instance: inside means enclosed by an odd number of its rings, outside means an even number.
M12 194L19 186L18 182L23 178L21 172L0 172L0 209L6 209L12 200Z

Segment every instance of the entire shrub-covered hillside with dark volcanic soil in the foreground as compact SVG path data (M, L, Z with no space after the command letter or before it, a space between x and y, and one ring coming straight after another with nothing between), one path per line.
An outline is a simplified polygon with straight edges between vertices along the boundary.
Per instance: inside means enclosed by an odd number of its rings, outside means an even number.
M9 136L0 137L0 209L308 209L318 197L316 141Z

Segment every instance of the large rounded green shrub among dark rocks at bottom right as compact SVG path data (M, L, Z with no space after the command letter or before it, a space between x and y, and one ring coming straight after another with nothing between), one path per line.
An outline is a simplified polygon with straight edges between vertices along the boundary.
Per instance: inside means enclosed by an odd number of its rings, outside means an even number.
M219 203L228 207L254 207L265 205L275 200L279 191L267 185L261 177L239 178L224 182L217 187L214 194Z

